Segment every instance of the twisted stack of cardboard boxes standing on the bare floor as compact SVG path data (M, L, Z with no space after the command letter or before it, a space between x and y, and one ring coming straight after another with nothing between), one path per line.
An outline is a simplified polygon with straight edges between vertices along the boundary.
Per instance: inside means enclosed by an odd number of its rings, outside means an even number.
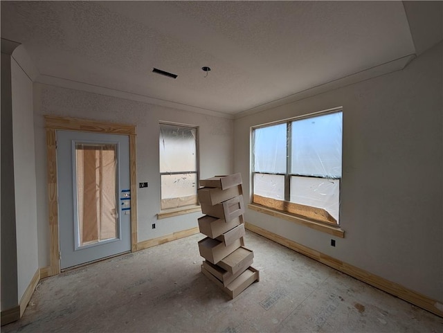
M254 281L259 271L251 267L253 251L244 247L244 201L241 174L219 176L200 181L197 192L201 211L199 242L205 258L201 272L231 297L235 298Z

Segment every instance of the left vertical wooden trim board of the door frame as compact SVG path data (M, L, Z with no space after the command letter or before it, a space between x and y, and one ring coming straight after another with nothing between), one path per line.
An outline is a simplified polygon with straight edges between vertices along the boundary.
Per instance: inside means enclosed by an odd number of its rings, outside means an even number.
M57 134L55 129L46 128L46 156L48 178L48 212L49 212L49 276L60 273L60 249L58 235L58 198L57 198Z

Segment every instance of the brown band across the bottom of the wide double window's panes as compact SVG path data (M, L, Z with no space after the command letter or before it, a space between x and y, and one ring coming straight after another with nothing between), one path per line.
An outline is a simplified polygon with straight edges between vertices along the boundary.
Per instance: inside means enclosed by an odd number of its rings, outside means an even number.
M281 210L282 212L301 215L301 217L315 219L320 222L332 224L334 226L337 225L337 220L334 219L334 217L323 208L295 204L293 202L276 200L272 198L262 197L260 195L253 195L253 204L262 205L266 208Z

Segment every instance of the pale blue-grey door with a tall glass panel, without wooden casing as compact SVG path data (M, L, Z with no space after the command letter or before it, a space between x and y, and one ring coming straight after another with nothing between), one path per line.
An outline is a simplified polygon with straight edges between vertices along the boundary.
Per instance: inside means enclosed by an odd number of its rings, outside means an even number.
M131 250L129 137L57 131L60 267Z

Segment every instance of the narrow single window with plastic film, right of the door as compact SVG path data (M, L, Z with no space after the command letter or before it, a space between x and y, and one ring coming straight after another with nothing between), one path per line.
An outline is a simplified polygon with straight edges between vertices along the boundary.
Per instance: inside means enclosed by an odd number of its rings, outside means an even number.
M197 205L197 128L160 124L161 209Z

